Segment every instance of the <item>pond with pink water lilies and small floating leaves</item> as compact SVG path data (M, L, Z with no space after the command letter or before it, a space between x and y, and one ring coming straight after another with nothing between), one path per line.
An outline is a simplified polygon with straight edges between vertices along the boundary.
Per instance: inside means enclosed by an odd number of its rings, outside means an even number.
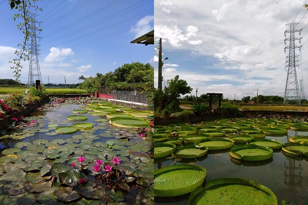
M0 133L0 204L153 204L148 111L54 98Z

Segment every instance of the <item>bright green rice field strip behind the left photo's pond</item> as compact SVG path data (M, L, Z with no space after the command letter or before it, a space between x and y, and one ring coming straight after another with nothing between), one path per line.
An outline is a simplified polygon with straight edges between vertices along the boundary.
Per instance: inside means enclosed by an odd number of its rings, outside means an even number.
M10 87L10 88L0 88L0 94L7 95L12 93L21 93L29 90L28 88L20 87ZM70 89L70 88L46 88L48 94L87 94L86 90L82 89Z

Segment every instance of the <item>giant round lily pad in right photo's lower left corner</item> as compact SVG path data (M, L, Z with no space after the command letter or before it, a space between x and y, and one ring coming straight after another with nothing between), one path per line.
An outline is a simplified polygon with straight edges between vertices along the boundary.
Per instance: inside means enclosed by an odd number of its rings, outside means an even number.
M154 193L167 197L190 193L202 185L205 176L206 170L195 165L164 167L154 173Z

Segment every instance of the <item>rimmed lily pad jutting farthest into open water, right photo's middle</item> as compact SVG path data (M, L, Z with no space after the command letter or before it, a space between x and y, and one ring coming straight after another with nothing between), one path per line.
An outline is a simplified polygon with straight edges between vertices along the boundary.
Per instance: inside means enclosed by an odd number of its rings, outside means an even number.
M238 145L230 150L230 155L246 161L260 161L273 157L273 150L256 145Z

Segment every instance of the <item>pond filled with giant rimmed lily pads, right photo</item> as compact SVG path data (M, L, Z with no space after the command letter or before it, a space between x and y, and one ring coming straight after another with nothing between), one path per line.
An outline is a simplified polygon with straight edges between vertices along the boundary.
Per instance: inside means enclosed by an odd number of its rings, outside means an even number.
M308 204L302 119L156 126L154 140L155 204Z

